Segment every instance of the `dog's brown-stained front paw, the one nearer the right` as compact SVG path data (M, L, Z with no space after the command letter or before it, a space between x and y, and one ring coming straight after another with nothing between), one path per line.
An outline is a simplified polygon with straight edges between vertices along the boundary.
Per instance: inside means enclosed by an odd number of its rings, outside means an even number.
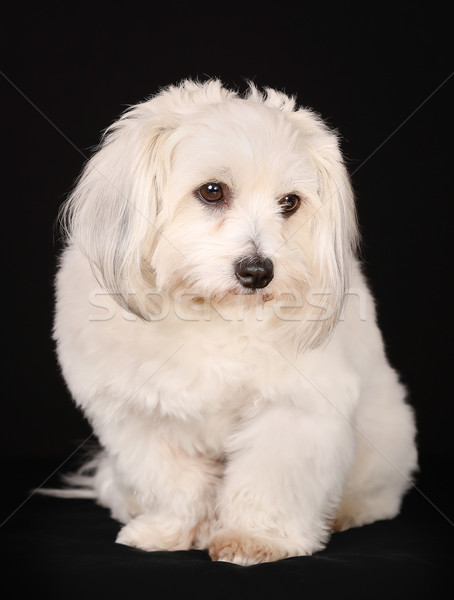
M212 560L232 562L249 566L262 562L272 562L306 554L290 547L280 540L261 538L239 531L221 531L211 540L209 553Z

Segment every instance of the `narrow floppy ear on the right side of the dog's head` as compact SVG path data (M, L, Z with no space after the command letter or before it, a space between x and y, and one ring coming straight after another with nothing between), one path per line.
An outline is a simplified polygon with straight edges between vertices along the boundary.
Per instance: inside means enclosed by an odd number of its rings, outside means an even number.
M312 156L318 195L304 227L310 228L311 293L303 345L322 344L336 326L358 245L353 191L337 136L308 109L292 113Z

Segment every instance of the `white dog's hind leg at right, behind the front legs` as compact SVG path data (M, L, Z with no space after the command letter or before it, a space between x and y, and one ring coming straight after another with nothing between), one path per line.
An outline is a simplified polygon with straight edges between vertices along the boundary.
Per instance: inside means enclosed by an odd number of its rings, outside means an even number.
M417 469L413 412L405 390L388 366L376 369L356 415L356 452L333 523L344 531L391 519Z

